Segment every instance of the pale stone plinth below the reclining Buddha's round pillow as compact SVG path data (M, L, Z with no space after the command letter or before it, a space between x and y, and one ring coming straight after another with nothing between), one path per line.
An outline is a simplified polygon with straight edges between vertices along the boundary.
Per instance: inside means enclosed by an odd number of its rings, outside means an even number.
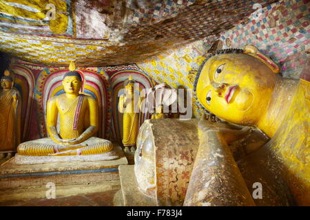
M155 199L147 197L139 189L134 176L134 165L119 166L119 176L121 179L121 192L114 197L114 206L156 206ZM123 201L120 201L120 195Z

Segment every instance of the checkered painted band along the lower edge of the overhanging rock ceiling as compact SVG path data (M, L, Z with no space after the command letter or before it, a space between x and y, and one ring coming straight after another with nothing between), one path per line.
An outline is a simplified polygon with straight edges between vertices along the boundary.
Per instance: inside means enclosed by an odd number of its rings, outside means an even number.
M255 2L267 5L272 1L274 0ZM123 30L119 30L121 41L114 38L112 38L114 41L112 39L111 41L72 39L67 35L42 36L31 29L28 30L28 34L1 30L0 51L9 52L24 61L40 65L64 66L70 61L75 61L79 66L137 63L167 48L185 45L203 39L205 36L214 36L223 30L228 30L237 21L254 11L252 8L254 1L248 0L165 0L155 1L155 5L152 1L148 1L149 5L141 4L136 7L136 10L133 10L134 4L139 1L130 2L129 4L132 5L127 5L129 9L125 9L128 16L121 21L123 25ZM70 10L73 9L68 8L68 11ZM130 14L131 12L133 15ZM75 21L74 15L70 16L73 16L70 19ZM132 21L130 21L131 18ZM72 27L72 25L69 26ZM116 34L113 28L112 34Z

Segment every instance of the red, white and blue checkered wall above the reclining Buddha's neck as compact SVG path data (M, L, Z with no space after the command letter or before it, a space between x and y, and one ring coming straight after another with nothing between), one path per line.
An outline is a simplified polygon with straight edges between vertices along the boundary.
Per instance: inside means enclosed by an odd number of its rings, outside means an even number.
M221 33L224 48L255 45L281 67L282 75L299 78L309 57L309 0L285 0L263 8L262 17L249 17L249 23L239 24ZM231 40L231 46L225 44Z

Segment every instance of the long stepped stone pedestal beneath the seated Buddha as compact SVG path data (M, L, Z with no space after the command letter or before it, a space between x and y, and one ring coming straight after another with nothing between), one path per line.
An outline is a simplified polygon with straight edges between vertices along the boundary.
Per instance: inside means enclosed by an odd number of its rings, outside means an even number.
M118 166L128 164L117 146L117 159L17 164L14 157L0 165L0 204L3 201L45 198L55 186L56 197L120 188Z

